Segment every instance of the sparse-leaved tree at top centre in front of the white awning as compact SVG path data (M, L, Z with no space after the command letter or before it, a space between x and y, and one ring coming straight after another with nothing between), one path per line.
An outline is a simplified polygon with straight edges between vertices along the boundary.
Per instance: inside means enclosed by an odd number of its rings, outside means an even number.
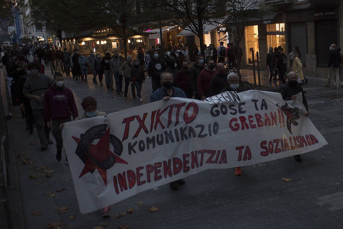
M154 9L165 25L178 25L199 37L201 53L204 54L204 29L206 25L218 25L224 19L223 4L218 0L146 0L147 9Z

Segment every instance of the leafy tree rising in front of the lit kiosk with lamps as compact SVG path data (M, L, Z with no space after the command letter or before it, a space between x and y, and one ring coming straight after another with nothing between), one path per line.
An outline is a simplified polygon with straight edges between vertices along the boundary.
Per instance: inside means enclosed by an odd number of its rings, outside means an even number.
M143 16L137 0L89 0L89 4L97 12L99 25L108 26L108 33L115 34L123 41L126 59L128 39L138 33L133 26L139 24Z

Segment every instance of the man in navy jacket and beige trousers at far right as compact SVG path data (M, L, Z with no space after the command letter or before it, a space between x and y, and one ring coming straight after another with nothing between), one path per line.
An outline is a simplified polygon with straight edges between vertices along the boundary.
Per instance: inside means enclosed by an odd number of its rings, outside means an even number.
M341 54L338 50L336 50L336 45L332 44L330 46L330 53L329 53L329 76L328 76L328 83L324 85L326 88L330 88L331 84L331 77L334 75L335 77L335 89L339 89L339 82L340 82L340 76L339 76L339 70L341 65Z

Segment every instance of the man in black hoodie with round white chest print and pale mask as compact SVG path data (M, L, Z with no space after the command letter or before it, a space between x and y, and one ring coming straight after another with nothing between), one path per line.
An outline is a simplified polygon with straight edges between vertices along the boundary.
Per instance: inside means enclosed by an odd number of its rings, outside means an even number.
M159 56L158 51L153 51L153 58L148 65L148 74L151 76L152 92L161 88L161 73L166 69L166 65L162 58Z

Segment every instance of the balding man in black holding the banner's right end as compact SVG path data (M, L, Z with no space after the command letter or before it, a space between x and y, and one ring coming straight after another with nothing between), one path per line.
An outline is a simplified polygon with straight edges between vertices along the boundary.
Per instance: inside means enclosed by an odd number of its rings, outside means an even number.
M301 85L297 82L297 73L295 71L288 72L288 83L283 84L280 88L280 93L282 95L282 99L287 100L295 100L297 98L297 94L301 92L303 96L303 104L306 108L306 114L305 116L308 116L308 104L307 100L305 98L304 90L301 87ZM295 161L301 161L300 155L294 156Z

